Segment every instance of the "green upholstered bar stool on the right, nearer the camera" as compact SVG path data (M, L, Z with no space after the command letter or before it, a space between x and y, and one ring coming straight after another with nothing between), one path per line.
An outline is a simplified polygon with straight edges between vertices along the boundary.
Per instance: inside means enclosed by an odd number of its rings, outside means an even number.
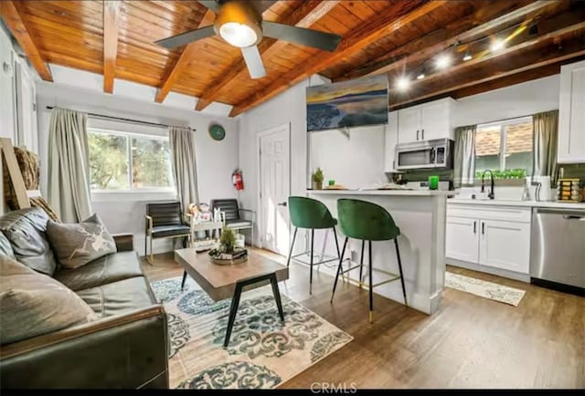
M369 276L369 321L370 323L374 319L374 297L372 289L380 285L387 284L388 282L400 279L402 284L402 295L404 296L404 304L407 304L406 299L406 288L404 287L404 276L402 275L402 263L400 261L400 250L398 237L400 234L399 227L394 223L392 216L388 214L388 211L376 203L369 203L366 201L353 200L353 199L340 199L337 200L337 215L339 216L339 227L341 233L346 235L346 241L344 247L341 249L341 257L339 258L339 266L337 267L337 275L335 276L335 284L333 286L333 293L331 294L331 302L335 295L335 287L337 287L337 279L339 275L356 269L359 267L359 285L364 285L362 282L362 268L364 263L364 243L367 241L368 245L368 276ZM359 266L350 266L344 270L341 266L346 253L347 240L354 238L362 241L362 260ZM399 262L400 275L393 274L388 271L384 271L378 268L372 267L372 241L389 241L394 240L396 246L396 256ZM381 272L388 276L389 279L381 281L376 285L372 285L372 270Z

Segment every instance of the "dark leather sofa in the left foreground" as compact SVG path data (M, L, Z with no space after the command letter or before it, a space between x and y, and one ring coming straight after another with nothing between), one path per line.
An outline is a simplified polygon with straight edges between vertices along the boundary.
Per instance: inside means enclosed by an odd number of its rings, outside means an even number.
M144 276L132 235L114 236L118 253L60 269L45 238L47 220L39 209L0 217L0 255L37 270L53 266L52 276L99 318L0 346L0 387L168 388L165 309Z

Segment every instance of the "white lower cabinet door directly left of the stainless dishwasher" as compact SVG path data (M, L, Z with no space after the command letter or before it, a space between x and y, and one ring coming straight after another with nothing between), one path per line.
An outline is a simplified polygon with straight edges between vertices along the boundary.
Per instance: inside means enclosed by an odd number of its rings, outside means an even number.
M530 270L530 224L482 220L479 264L528 274Z

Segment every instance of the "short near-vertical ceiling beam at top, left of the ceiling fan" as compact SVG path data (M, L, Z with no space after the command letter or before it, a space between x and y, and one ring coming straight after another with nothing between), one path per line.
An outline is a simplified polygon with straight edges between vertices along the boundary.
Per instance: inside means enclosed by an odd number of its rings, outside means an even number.
M118 0L103 2L103 91L113 92L118 56L118 28L120 26L120 6Z

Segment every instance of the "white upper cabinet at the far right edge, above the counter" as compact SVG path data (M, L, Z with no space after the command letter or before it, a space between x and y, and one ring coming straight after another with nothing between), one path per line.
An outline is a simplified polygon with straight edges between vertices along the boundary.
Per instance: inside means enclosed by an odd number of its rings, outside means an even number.
M560 68L558 163L585 162L585 60Z

